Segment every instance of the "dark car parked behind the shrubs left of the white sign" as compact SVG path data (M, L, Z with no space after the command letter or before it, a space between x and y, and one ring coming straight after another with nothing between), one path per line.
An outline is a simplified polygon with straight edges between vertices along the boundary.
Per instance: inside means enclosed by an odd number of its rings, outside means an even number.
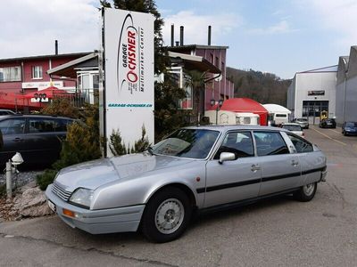
M67 134L70 117L8 115L0 117L4 146L0 151L0 166L16 152L24 165L50 165L59 158L62 140Z

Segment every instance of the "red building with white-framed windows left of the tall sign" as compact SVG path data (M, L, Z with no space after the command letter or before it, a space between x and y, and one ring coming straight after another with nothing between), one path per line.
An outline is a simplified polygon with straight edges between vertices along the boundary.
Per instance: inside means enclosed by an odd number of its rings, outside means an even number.
M51 79L46 72L48 69L53 69L87 54L89 53L0 59L0 108L2 108L1 99L6 99L6 102L11 99L15 101L18 98L17 95L40 91L51 85L60 89L76 88L76 79ZM11 108L8 104L4 107Z

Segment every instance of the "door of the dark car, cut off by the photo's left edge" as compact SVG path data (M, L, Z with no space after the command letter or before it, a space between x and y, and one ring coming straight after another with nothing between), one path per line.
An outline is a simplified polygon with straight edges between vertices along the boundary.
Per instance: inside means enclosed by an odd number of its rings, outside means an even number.
M27 148L25 139L25 118L11 117L0 121L3 134L3 149L0 151L0 163L4 165L16 152L25 155Z

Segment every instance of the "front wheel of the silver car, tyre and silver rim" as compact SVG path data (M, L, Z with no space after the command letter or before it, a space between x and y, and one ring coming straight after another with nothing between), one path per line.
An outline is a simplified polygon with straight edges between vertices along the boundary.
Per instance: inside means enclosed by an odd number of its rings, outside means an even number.
M145 207L141 230L156 243L178 239L191 219L192 205L187 194L176 187L160 190Z

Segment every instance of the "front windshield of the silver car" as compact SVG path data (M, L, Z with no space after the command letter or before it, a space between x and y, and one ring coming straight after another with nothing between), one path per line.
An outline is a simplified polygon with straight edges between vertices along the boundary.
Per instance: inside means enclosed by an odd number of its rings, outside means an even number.
M206 158L220 132L201 129L179 129L158 142L154 154L180 158Z

